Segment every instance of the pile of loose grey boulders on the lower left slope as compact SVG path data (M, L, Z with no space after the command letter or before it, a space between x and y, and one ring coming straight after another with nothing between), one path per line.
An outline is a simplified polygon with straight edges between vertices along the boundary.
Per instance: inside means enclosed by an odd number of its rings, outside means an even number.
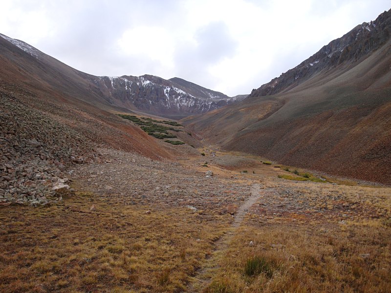
M63 171L91 160L100 161L84 137L0 93L0 206L62 200Z

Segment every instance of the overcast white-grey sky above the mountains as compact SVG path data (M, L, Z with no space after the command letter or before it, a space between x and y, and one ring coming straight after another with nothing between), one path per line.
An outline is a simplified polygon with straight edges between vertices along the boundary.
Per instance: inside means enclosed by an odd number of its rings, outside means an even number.
M0 0L0 33L81 71L229 96L280 76L390 0Z

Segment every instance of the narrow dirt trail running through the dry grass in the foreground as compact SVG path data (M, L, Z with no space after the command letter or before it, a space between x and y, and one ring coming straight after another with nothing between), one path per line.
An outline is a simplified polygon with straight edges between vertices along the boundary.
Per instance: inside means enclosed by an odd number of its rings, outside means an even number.
M215 249L212 252L212 255L208 257L204 267L200 268L196 272L196 275L193 277L194 280L192 283L189 284L187 292L191 292L191 293L202 292L202 290L209 284L212 276L215 274L215 272L218 269L218 260L220 259L222 253L224 253L224 251L228 248L228 245L232 237L234 236L235 231L239 228L248 210L261 197L261 190L264 191L266 189L261 189L261 186L259 184L254 184L251 187L251 195L239 207L235 215L235 220L231 225L231 229L228 230L226 234L224 234L215 242Z

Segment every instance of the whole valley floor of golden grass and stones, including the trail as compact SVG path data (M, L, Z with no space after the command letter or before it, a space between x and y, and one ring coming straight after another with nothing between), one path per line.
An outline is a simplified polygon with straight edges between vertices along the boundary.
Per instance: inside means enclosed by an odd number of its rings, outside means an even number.
M391 292L391 188L101 152L62 203L0 209L1 292Z

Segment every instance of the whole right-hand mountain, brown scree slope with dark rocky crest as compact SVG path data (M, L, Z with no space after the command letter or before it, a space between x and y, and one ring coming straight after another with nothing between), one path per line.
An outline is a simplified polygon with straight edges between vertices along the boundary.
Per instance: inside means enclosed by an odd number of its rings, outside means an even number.
M391 10L236 105L182 122L229 150L391 184Z

